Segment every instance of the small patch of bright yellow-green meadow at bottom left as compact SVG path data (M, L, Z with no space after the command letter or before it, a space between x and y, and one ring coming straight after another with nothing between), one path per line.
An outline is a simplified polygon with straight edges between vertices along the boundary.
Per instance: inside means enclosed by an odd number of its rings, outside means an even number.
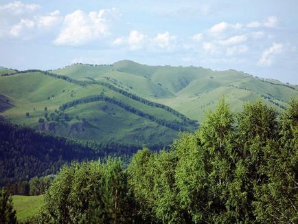
M13 195L12 201L14 210L16 210L16 218L19 222L24 222L31 216L34 216L41 209L43 203L43 195L23 196Z

